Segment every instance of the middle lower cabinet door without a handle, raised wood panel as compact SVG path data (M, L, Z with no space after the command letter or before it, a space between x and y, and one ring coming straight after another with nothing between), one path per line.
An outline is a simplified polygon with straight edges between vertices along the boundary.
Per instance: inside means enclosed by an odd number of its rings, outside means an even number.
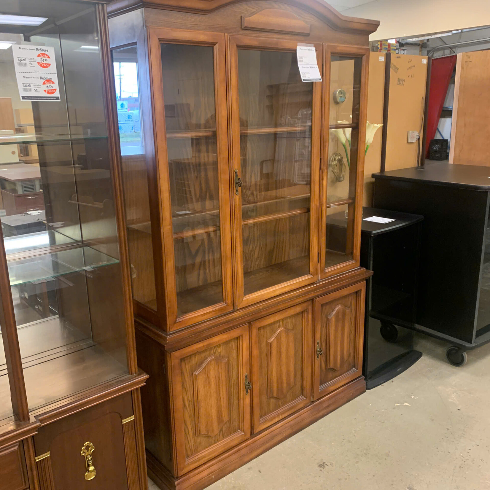
M251 323L253 431L311 401L312 302Z

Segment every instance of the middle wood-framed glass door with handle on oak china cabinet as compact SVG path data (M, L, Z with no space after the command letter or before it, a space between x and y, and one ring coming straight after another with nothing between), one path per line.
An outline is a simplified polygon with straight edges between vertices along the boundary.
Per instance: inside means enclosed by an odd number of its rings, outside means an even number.
M317 275L321 82L301 81L296 42L265 42L230 38L239 307Z

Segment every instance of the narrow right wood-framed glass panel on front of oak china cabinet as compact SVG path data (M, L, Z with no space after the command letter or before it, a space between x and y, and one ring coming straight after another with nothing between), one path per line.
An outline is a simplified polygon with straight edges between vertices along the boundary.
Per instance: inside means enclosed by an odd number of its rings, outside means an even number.
M368 50L346 49L325 49L320 277L359 265Z

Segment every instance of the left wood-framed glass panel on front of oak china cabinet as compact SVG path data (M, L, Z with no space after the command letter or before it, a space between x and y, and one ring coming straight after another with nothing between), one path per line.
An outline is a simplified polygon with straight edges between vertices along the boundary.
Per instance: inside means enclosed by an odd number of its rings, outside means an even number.
M172 329L233 307L224 34L151 35Z

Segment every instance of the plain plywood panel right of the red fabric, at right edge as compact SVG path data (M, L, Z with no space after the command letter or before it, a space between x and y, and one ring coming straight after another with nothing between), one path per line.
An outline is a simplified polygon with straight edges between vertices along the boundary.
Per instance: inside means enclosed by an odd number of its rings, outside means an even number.
M450 163L490 166L490 51L458 54Z

